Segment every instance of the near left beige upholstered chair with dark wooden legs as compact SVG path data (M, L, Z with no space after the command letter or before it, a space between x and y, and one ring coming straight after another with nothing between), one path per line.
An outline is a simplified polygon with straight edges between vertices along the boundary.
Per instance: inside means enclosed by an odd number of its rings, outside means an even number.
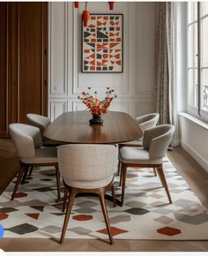
M19 155L20 169L11 200L14 199L19 183L30 166L55 166L56 186L58 199L60 199L60 174L57 163L56 147L41 147L42 139L40 129L28 124L10 124L9 132Z

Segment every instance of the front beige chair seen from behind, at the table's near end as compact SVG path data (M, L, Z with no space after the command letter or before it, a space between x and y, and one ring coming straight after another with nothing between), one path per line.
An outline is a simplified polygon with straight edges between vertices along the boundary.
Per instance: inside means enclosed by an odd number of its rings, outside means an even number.
M111 189L115 205L113 180L117 157L117 148L113 145L71 144L58 147L59 169L65 186L63 211L70 194L60 243L63 243L75 196L90 192L100 199L110 243L113 244L104 197L105 192Z

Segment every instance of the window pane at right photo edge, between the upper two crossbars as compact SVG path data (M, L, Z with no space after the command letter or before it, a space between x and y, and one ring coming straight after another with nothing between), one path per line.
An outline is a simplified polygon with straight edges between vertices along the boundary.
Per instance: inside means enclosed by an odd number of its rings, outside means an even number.
M203 19L202 28L202 44L203 44L203 66L208 66L208 17Z

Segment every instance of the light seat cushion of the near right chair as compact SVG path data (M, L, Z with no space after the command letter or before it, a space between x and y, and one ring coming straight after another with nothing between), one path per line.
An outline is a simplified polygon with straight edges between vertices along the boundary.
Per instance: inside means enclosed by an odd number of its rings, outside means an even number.
M124 163L137 163L137 164L160 164L160 159L150 159L149 152L139 147L123 147L119 153L120 161Z

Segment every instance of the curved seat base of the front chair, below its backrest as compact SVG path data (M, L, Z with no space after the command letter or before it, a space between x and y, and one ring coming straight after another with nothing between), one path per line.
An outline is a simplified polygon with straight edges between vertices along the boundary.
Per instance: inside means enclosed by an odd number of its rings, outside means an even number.
M65 184L68 184L71 187L94 189L94 188L104 187L104 186L110 184L113 177L114 177L114 175L104 178L104 179L91 180L91 181L71 180L69 177L63 177L63 180L64 180Z

